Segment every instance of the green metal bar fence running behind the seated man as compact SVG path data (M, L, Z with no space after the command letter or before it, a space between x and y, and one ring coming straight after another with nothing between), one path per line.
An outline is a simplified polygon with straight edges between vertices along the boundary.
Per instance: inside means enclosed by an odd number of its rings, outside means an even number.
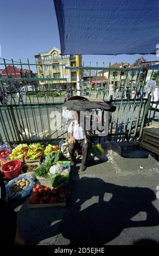
M62 114L60 107L63 104L65 92L70 89L66 78L54 77L17 77L16 67L31 70L38 64L20 62L11 63L4 59L0 63L1 69L11 65L14 74L1 75L1 105L0 105L0 141L10 144L21 142L50 142L65 139L67 131L63 131ZM44 64L42 64L44 65ZM47 64L48 65L48 64ZM151 95L145 95L144 86L147 81L148 71L142 68L104 68L104 67L66 67L66 69L81 70L80 95L91 96L112 102L116 111L109 113L109 135L106 139L114 141L139 141L143 127L152 119L159 119L158 102L154 102ZM90 76L84 80L84 71ZM91 83L91 70L95 71L95 82ZM104 72L108 79L105 82ZM116 83L116 72L120 72ZM111 75L111 72L114 72ZM124 79L123 78L124 72ZM136 74L135 74L136 72ZM154 71L151 71L150 78ZM98 83L98 76L101 81ZM129 78L129 79L128 79ZM158 72L156 75L156 81ZM65 84L61 88L60 83ZM112 83L112 92L109 84ZM43 85L41 85L43 84ZM22 94L22 88L26 88ZM34 88L29 90L29 88ZM129 89L129 94L128 94ZM76 88L73 95L77 94ZM52 129L52 124L54 129ZM94 138L98 136L94 133ZM101 139L101 138L100 138Z

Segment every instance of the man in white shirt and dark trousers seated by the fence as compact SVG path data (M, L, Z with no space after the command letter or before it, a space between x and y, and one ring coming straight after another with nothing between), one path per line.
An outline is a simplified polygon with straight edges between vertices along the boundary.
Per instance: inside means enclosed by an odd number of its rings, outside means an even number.
M87 153L89 148L89 142L88 139L85 143L85 136L84 136L84 127L80 125L80 118L78 113L78 121L73 120L71 124L68 127L68 133L70 138L70 144L69 144L69 155L71 157L71 166L75 166L75 156L74 152L76 149L82 149L82 162L80 166L80 172L84 172L86 167L86 160L87 160ZM87 133L90 135L91 132L87 131Z

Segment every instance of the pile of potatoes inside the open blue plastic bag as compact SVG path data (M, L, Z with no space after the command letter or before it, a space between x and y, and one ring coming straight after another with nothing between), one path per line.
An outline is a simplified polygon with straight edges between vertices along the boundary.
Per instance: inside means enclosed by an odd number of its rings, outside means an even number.
M25 190L30 185L30 181L27 179L20 179L15 181L10 186L11 196L15 196L16 193Z

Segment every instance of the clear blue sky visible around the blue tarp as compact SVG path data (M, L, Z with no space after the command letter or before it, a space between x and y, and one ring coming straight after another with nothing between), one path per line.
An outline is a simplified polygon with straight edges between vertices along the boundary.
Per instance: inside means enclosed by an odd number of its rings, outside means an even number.
M66 0L67 1L67 0ZM1 58L35 63L34 54L47 52L53 46L60 49L58 24L53 0L1 0L0 4L0 45ZM83 55L87 66L109 65L109 62L133 63L139 54L118 56ZM144 56L147 60L157 60L157 56ZM0 62L1 63L1 62ZM1 69L1 68L0 68ZM34 69L32 69L35 71Z

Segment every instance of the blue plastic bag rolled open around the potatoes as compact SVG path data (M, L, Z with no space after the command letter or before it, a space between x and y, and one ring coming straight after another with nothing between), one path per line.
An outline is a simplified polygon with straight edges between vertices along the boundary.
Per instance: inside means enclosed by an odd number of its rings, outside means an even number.
M30 181L30 185L26 189L21 190L20 192L17 192L15 194L15 196L11 196L10 186L12 184L14 184L14 182L16 180L21 180L22 178L29 180ZM6 188L6 192L7 192L9 198L11 198L11 199L22 199L24 197L29 196L29 194L31 194L31 191L33 190L33 186L34 186L33 179L30 179L30 178L26 177L26 175L22 174L22 175L18 176L17 178L15 178L13 180L10 180L8 182L8 184L5 186L5 188Z

